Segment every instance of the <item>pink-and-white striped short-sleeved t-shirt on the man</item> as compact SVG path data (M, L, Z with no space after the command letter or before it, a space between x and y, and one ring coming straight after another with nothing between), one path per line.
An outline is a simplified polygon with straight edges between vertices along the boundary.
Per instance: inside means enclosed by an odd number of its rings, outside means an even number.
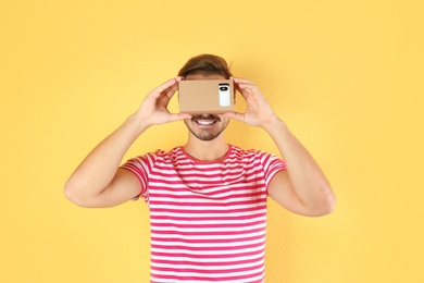
M151 282L264 282L266 187L285 163L229 146L216 162L183 147L123 164L150 210Z

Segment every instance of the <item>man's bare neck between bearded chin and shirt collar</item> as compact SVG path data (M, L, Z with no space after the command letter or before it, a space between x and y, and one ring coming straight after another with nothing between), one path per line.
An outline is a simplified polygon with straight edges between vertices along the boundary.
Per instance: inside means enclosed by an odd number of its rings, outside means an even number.
M213 140L204 142L190 134L184 150L197 160L216 161L228 152L228 144L223 135L217 136Z

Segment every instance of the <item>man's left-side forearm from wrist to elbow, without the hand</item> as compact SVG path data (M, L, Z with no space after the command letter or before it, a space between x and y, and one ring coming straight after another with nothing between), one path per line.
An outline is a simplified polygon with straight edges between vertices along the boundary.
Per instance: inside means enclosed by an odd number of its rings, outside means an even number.
M66 195L82 198L99 195L113 180L125 152L147 127L136 114L129 116L77 167L65 184Z

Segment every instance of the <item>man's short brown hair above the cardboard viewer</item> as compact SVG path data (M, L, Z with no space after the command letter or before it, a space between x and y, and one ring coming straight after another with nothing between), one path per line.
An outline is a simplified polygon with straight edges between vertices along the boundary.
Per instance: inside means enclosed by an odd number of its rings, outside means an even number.
M194 57L178 72L178 76L183 77L190 74L223 75L227 79L233 76L227 62L223 58L213 54Z

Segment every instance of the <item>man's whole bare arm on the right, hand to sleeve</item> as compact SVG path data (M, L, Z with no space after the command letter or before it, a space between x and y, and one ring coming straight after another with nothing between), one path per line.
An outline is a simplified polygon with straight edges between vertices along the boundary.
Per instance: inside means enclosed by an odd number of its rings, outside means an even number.
M299 214L317 217L332 212L335 195L312 156L274 113L252 82L241 78L234 78L234 82L246 99L247 110L245 113L226 115L265 130L287 165L286 171L278 172L271 181L269 195L280 206Z

